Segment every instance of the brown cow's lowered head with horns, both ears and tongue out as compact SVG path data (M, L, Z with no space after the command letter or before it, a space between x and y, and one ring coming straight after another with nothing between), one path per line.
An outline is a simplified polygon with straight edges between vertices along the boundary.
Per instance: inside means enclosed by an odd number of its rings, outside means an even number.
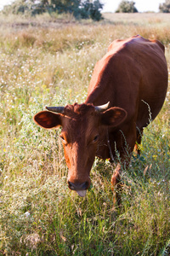
M108 105L94 107L93 104L75 103L65 108L46 107L49 111L34 116L35 123L45 129L62 126L60 138L69 169L68 186L81 196L86 195L90 186L89 173L104 127L120 125L127 116L122 108L107 109Z

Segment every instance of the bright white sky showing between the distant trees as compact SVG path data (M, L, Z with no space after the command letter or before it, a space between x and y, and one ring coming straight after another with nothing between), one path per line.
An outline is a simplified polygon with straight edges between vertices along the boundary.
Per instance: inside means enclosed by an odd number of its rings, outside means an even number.
M130 1L130 0L128 0ZM159 11L159 3L165 3L165 0L133 0L135 2L135 7L139 12L144 11ZM0 9L3 9L3 6L14 2L14 0L0 0ZM122 0L100 0L101 3L105 3L103 11L105 12L115 12L119 3Z

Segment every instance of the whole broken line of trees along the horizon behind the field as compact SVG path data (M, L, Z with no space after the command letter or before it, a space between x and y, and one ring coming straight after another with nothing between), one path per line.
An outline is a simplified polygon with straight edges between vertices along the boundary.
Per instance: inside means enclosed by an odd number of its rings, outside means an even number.
M101 20L104 4L100 0L15 0L4 8L3 12L13 14L40 15L42 13L69 13L77 19ZM160 12L170 12L170 0L160 3ZM116 13L136 13L135 2L122 0Z

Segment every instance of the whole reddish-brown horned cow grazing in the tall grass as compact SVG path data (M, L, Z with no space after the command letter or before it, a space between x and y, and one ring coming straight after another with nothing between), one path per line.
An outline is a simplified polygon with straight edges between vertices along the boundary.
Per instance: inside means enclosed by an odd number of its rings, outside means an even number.
M117 162L111 183L120 205L122 165L128 165L135 143L141 143L150 115L153 120L160 112L166 92L164 46L138 35L110 45L94 67L86 102L47 107L49 111L37 113L37 125L46 129L62 126L69 188L85 196L95 156L114 160L117 151L121 163ZM110 105L101 106L105 102Z

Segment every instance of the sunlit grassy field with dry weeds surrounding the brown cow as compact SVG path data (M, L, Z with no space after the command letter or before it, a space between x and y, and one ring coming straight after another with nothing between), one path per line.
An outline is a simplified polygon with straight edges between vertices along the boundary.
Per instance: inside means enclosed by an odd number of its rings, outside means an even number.
M78 197L67 187L59 130L32 120L46 105L84 102L116 38L159 39L170 70L169 15L104 16L0 15L0 255L170 255L170 90L122 174L121 209L113 208L114 166L96 159L93 186Z

